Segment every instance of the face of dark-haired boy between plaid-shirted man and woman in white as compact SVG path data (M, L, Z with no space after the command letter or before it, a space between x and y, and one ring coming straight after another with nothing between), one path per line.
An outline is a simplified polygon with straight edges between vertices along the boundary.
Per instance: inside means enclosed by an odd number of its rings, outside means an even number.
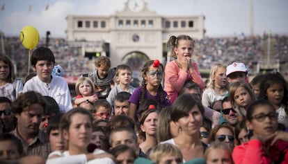
M51 145L52 152L54 151L60 151L64 152L67 149L67 140L63 138L63 136L60 134L60 131L58 129L54 129L50 131L49 134L49 141Z

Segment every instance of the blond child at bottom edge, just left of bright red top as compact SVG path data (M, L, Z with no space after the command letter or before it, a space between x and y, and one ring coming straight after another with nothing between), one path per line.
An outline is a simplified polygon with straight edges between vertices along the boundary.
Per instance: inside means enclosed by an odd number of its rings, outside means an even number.
M204 154L206 164L225 163L233 164L229 147L224 143L212 143Z

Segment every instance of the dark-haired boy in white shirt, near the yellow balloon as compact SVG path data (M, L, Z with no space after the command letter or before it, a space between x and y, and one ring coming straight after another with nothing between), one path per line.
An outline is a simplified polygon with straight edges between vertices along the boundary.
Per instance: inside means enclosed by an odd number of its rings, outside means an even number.
M51 75L54 64L54 54L49 48L35 49L31 55L31 66L37 75L25 83L23 93L36 91L48 95L56 100L60 111L69 111L72 109L70 90L64 78Z

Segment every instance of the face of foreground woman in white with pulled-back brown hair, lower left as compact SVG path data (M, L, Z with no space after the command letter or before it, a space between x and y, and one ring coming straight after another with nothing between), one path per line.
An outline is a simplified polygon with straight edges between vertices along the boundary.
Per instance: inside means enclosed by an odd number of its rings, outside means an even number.
M69 149L83 149L91 141L92 123L88 115L75 113L70 118L69 130L64 130L63 136L69 142Z

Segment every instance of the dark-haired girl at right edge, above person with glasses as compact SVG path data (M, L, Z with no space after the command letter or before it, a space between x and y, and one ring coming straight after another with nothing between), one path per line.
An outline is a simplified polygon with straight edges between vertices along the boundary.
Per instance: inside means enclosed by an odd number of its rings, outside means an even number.
M280 73L267 74L260 86L259 97L268 100L278 113L278 122L288 127L287 82Z

